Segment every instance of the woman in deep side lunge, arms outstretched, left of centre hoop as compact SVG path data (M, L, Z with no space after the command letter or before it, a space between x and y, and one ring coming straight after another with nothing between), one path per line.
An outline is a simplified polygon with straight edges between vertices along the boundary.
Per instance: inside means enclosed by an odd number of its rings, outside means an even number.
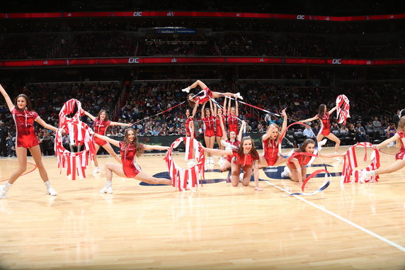
M136 162L136 158L139 157L144 150L169 150L170 147L160 145L144 145L139 143L138 137L133 128L127 128L125 130L125 136L122 142L111 139L107 136L98 135L97 133L94 133L94 136L100 138L101 140L110 142L116 147L119 147L122 162L122 164L110 162L105 163L105 174L107 176L107 181L103 189L100 190L100 193L113 193L113 172L120 177L133 178L149 184L171 185L170 179L156 178L146 174Z

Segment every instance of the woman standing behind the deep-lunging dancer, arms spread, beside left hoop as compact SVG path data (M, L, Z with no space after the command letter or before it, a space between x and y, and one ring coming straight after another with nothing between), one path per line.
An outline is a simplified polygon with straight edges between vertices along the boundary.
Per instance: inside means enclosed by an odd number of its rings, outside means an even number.
M110 125L123 125L125 127L130 127L132 125L131 123L125 124L125 123L118 123L118 122L110 121L108 119L108 115L105 110L99 111L97 117L92 116L87 111L84 111L84 113L86 114L86 116L89 116L89 118L94 121L94 126L93 126L94 133L97 133L100 135L105 135L105 130L107 130L107 128ZM103 147L108 152L108 154L110 154L111 156L113 156L115 158L115 160L117 160L118 162L121 162L120 157L118 157L118 154L116 154L114 152L113 147L111 147L110 143L106 142L105 140L101 140L98 137L94 138L94 142L95 142L95 146L96 146L96 153L98 152L100 147ZM94 157L94 166L96 168L94 169L93 174L99 173L100 167L98 167L98 161L97 161L96 157Z

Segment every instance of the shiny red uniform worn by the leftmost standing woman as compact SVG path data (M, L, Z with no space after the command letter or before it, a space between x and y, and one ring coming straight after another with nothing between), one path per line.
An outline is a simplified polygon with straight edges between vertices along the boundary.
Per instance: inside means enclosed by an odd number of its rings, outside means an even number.
M19 110L16 106L11 108L14 123L16 123L16 147L30 148L39 145L35 135L34 121L39 118L35 111Z

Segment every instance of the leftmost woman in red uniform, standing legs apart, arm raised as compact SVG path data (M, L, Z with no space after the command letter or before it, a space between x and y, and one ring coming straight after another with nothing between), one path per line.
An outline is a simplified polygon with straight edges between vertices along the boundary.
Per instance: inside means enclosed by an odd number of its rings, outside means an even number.
M46 193L51 196L56 196L57 193L52 189L52 186L50 186L47 171L42 164L40 142L35 135L34 121L48 130L56 131L57 128L45 123L45 121L38 116L38 113L32 111L30 99L28 99L28 96L25 96L25 94L18 95L14 104L1 85L0 91L4 99L6 99L8 109L13 115L14 123L16 123L16 154L18 160L18 168L16 171L11 174L6 184L0 186L0 198L6 198L8 189L11 188L18 177L27 169L27 149L30 150L35 164L38 167L38 171L40 171L41 179L44 181L47 188Z

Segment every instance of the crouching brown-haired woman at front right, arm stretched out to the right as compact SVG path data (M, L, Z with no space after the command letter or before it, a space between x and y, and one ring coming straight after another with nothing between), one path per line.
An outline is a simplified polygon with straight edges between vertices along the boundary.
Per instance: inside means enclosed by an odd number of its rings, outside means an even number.
M294 152L302 152L302 153L310 153L313 154L315 150L315 142L312 139L307 139L302 142L302 145ZM318 157L344 157L346 153L343 154L321 154L318 153ZM311 156L307 156L304 154L298 155L297 157L293 157L290 162L287 162L287 166L285 166L281 177L290 177L292 181L299 182L300 186L302 186L302 179L307 177L307 165L311 160Z

